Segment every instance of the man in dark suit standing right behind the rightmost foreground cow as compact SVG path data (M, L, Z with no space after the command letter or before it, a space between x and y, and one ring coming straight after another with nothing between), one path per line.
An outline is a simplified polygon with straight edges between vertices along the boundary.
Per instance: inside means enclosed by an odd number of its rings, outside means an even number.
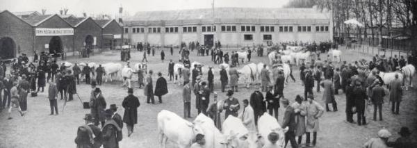
M277 97L278 94L273 88L272 85L268 86L269 90L266 92L265 99L268 104L268 112L278 120L279 97Z

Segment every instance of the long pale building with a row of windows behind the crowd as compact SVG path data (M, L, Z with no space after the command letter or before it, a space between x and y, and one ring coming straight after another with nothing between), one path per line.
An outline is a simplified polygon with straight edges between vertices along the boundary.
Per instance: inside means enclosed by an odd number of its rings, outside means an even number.
M332 12L316 8L215 8L139 12L124 18L131 44L261 44L332 40Z

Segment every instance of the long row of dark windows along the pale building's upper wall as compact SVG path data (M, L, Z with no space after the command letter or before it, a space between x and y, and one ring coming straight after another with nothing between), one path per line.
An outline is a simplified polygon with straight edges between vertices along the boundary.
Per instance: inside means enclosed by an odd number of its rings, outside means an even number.
M202 32L215 32L215 26L202 26ZM237 28L234 25L221 26L222 32L236 32ZM132 33L145 33L144 27L132 28ZM183 33L196 33L197 26L182 27ZM241 32L256 32L256 26L240 26ZM260 26L260 32L275 32L275 26ZM293 26L279 26L278 32L294 32ZM297 26L297 32L311 32L311 26ZM316 26L316 32L328 32L329 26ZM165 33L178 33L179 27L165 27ZM129 33L129 28L124 28L124 33ZM161 33L161 27L149 27L147 33Z

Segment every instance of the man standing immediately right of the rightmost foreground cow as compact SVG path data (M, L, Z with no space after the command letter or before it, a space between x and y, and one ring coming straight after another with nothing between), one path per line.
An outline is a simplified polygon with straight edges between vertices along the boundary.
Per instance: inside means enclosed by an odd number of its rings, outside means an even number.
M297 142L295 141L295 128L297 126L297 123L295 122L295 112L294 108L289 106L290 101L288 99L282 99L281 100L282 106L285 108L284 112L284 119L282 122L282 129L285 129L288 127L288 131L285 133L285 146L288 142L288 140L291 142L291 147L298 147Z

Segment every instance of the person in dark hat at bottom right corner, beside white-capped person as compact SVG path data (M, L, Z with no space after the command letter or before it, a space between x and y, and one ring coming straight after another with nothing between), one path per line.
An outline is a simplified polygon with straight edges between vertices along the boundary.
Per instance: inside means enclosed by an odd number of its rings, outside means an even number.
M401 137L395 140L395 142L388 142L387 145L389 147L394 147L394 148L416 147L417 143L411 139L410 137L411 131L409 130L408 127L402 126L400 129L400 132L398 133L401 135Z

